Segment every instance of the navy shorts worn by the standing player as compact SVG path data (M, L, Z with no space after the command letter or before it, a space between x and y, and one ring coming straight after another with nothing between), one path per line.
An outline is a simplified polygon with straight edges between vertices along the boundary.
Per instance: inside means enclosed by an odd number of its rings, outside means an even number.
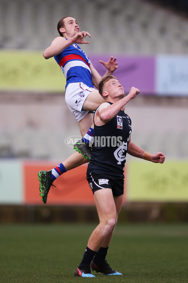
M94 194L95 191L110 188L115 197L123 195L124 192L124 178L105 177L102 175L87 174L86 177L89 186Z

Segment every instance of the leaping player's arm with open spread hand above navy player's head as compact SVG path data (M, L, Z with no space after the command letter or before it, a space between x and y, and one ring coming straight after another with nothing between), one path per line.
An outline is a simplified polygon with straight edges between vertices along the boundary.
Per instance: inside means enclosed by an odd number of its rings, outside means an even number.
M105 77L107 75L113 75L113 72L116 69L118 69L118 66L117 66L118 63L116 62L116 57L113 58L113 56L111 56L110 60L106 63L101 60L99 60L99 62L103 64L103 66L105 66L106 68L106 73L102 77ZM92 83L96 88L98 88L98 84L101 80L101 76L99 75L97 70L93 67L92 63L90 64L90 69L91 69L91 75L92 75Z

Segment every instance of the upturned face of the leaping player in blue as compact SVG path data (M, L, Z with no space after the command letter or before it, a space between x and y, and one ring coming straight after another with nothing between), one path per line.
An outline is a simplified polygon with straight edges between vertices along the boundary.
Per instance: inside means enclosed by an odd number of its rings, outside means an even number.
M77 20L72 17L65 18L63 23L64 27L60 28L60 32L63 33L64 37L73 37L80 31Z

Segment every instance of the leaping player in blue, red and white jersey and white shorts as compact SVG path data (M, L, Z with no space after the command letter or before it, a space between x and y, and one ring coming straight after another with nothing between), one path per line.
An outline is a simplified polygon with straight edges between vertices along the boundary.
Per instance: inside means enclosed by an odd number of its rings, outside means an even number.
M46 203L48 192L53 181L66 171L89 161L91 147L89 142L93 132L93 111L103 102L98 90L101 76L94 69L90 59L78 44L89 44L84 41L87 31L80 31L77 20L72 17L62 18L57 26L60 36L56 37L43 53L44 58L54 57L66 78L65 101L78 121L83 142L76 143L73 153L63 163L49 171L39 171L40 196ZM105 75L112 75L118 68L116 58L108 62L100 62L105 66ZM81 153L81 154L79 154ZM85 158L83 158L85 157Z

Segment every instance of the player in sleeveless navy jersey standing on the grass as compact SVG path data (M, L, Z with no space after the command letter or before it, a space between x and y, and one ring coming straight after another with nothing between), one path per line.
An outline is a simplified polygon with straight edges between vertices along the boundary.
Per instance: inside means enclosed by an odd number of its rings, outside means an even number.
M131 119L124 110L125 104L139 92L132 87L124 97L123 87L112 75L104 77L99 83L99 93L106 102L97 108L94 115L94 141L87 180L100 223L88 240L75 276L94 277L91 269L106 275L122 275L110 268L106 255L123 201L126 153L154 163L165 161L162 152L148 153L131 141Z

